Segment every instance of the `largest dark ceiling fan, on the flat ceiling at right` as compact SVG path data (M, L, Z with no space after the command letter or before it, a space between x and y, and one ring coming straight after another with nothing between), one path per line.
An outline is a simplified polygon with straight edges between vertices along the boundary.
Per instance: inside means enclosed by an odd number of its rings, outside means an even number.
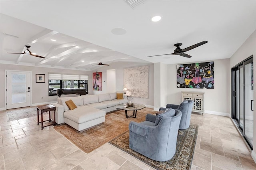
M172 55L181 55L182 57L187 57L190 58L192 56L185 54L184 52L189 51L190 49L199 47L200 45L203 45L205 43L208 43L208 41L203 41L194 45L191 45L190 47L186 47L184 49L181 49L180 46L182 45L182 43L176 43L174 44L174 46L176 47L176 49L174 49L174 53L170 53ZM161 54L161 55L170 55L170 54ZM159 56L159 55L152 55L152 56L148 56L148 57L154 57L154 56Z

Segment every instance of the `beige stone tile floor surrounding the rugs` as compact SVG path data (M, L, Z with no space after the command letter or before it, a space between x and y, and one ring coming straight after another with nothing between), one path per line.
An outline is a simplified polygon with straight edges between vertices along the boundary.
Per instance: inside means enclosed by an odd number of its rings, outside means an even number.
M8 110L10 111L10 110ZM45 113L45 119L47 119ZM256 164L228 117L192 114L199 126L192 170L253 170ZM150 166L109 143L86 154L37 117L7 122L0 111L0 170L144 169Z

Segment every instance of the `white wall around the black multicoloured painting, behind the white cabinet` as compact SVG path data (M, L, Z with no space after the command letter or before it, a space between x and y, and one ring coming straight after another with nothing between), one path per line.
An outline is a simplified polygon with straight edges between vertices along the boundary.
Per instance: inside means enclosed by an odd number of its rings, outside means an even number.
M177 88L177 65L168 65L168 102L180 104L182 101L181 91L202 91L204 92L205 113L218 115L230 115L230 68L229 59L211 60L214 61L214 89L190 89ZM208 61L199 61L208 62ZM181 63L185 64L185 63ZM161 105L161 107L166 107Z

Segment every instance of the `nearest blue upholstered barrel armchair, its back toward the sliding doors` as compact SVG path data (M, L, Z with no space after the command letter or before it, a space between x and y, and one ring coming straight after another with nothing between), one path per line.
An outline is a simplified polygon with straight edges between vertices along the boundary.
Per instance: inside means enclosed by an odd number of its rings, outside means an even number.
M170 109L160 115L146 115L146 121L130 122L129 147L156 161L170 160L176 151L181 111Z

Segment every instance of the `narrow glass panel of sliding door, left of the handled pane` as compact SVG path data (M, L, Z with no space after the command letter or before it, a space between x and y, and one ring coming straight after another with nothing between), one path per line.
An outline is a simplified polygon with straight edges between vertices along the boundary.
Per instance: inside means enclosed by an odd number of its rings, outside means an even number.
M244 129L244 67L239 67L239 127Z

